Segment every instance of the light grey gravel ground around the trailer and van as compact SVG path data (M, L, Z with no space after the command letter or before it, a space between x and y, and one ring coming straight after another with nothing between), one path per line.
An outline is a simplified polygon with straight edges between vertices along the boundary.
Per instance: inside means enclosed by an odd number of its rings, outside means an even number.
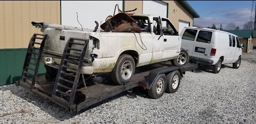
M205 67L187 72L179 90L150 99L141 88L78 113L22 87L0 87L0 123L256 123L256 63L219 74Z

